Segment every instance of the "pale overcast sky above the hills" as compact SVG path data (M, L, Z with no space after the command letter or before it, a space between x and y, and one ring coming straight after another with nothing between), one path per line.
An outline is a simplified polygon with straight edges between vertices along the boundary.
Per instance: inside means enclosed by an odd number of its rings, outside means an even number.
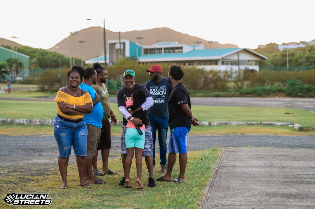
M2 0L1 8L1 38L43 49L103 19L112 31L169 27L245 48L315 39L315 1L306 0Z

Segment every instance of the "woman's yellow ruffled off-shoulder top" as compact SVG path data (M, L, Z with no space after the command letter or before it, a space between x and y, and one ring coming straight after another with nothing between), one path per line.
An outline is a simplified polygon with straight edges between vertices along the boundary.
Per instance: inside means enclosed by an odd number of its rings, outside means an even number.
M71 105L78 105L78 106L83 106L86 105L87 103L92 102L91 95L89 93L86 93L82 96L71 96L70 94L66 94L65 92L58 91L56 98L54 98L55 102L66 102ZM83 118L83 115L66 115L62 113L59 109L59 106L57 104L57 112L59 115L65 118L71 118L71 119L80 119Z

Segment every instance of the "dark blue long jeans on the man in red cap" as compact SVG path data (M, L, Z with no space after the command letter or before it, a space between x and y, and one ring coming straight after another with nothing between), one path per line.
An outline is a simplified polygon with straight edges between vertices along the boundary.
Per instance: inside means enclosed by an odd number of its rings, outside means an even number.
M160 159L161 165L166 165L166 139L167 139L167 130L169 129L169 118L157 118L149 116L151 123L152 139L153 139L153 166L155 166L155 141L156 141L156 132L158 133L158 143L160 145Z

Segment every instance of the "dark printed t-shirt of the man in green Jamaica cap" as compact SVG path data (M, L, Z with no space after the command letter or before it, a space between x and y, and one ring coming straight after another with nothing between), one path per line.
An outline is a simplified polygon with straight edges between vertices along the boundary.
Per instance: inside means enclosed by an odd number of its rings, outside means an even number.
M118 107L121 106L126 107L126 101L131 100L132 92L138 89L143 89L146 92L146 97L151 97L151 94L149 93L148 89L142 84L135 84L135 88L132 91L129 91L125 86L117 93ZM127 122L128 121L125 118L123 118L123 125L127 125ZM148 125L150 125L150 122L148 122Z

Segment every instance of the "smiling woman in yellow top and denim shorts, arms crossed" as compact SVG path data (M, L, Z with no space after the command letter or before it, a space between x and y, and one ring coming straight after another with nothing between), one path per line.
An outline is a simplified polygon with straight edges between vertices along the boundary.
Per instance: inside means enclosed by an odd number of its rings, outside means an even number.
M83 119L84 114L92 113L93 105L89 93L79 89L86 71L80 66L73 66L68 72L68 83L57 92L57 115L54 120L54 136L58 145L58 165L62 178L60 189L68 189L67 167L71 146L77 157L80 186L90 188L84 181L86 168L86 142L88 129Z

